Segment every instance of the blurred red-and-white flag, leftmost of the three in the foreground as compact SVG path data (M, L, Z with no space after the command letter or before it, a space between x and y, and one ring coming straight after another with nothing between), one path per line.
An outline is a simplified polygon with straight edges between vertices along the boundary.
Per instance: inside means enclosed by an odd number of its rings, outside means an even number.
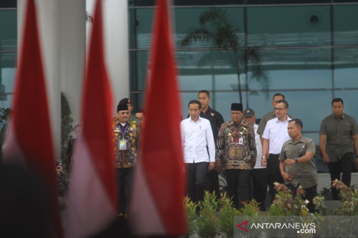
M36 19L34 0L28 0L13 111L8 137L4 144L4 163L25 166L44 182L49 193L51 236L63 237L45 76Z

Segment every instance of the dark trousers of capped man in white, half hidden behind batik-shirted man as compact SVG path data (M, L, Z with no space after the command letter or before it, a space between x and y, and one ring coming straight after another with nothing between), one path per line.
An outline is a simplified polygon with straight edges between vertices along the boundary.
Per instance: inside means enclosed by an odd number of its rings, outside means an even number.
M260 210L266 211L265 198L267 195L267 169L253 169L251 171L253 181L254 199L260 203Z

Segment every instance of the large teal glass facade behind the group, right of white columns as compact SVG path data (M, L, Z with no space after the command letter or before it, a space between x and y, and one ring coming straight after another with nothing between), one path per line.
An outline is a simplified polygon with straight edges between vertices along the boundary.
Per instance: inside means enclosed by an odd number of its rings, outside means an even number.
M210 106L230 120L230 104L239 102L240 83L244 107L253 108L258 118L271 109L275 93L284 94L289 113L303 121L304 134L316 145L321 120L332 113L333 98L341 97L344 112L358 120L357 0L202 2L207 1L177 0L172 8L183 117L188 101L206 89ZM130 96L136 108L142 106L146 88L153 4L128 0ZM222 48L203 41L181 46L185 34L199 26L199 16L212 8L224 10L234 23L239 54L246 47L259 50L268 88L252 77L250 62L240 64L238 80L231 56Z

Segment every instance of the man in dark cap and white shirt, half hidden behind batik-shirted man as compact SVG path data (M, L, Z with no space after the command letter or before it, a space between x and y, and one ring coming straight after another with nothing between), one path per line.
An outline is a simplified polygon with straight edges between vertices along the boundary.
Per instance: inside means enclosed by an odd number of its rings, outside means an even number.
M244 110L244 115L242 120L250 123L254 126L255 131L255 143L256 143L256 164L254 169L251 171L251 178L253 181L253 195L254 199L260 203L260 210L262 212L266 211L265 207L265 198L267 195L267 169L261 165L262 157L262 145L260 140L260 135L257 133L258 125L255 124L256 114L255 111L251 108L246 108Z

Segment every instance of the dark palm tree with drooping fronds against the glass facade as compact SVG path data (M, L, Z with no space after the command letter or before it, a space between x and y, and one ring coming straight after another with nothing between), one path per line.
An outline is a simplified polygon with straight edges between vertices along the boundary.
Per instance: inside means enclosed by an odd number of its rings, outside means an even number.
M229 64L235 69L238 80L239 99L242 103L242 87L240 84L240 73L245 73L244 83L248 92L251 80L260 83L262 89L269 89L270 81L266 73L261 68L261 55L257 47L249 47L242 44L237 32L240 29L237 24L230 19L226 10L221 8L211 8L199 16L199 26L190 28L181 40L181 46L191 43L204 41L211 43L211 47L217 50L225 50L229 55ZM242 46L243 45L243 46ZM210 60L210 57L202 56L199 62L201 65ZM205 60L206 59L206 60ZM211 58L212 59L212 58ZM248 78L248 66L251 67L251 77ZM243 71L242 71L243 67ZM246 106L249 102L246 100Z

